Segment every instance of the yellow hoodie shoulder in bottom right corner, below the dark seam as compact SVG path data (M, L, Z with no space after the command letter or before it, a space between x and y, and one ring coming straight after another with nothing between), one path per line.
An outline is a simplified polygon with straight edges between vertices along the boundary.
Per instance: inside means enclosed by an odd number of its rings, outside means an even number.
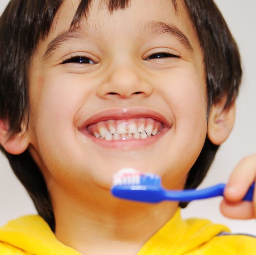
M252 235L221 233L201 245L191 255L251 255L256 254L256 237Z

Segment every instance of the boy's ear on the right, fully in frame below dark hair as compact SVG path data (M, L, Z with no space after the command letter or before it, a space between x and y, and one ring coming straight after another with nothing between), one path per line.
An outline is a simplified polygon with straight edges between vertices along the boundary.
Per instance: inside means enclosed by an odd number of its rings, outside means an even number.
M228 138L235 123L235 101L229 108L223 110L226 100L224 97L219 103L214 104L208 118L208 138L215 145L222 144Z

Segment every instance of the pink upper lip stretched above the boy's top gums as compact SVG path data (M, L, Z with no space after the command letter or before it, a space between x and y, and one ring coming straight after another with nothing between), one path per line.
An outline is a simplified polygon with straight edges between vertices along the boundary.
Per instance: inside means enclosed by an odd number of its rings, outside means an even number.
M164 127L171 128L172 121L168 120L156 110L145 107L130 107L130 108L109 108L100 111L88 119L79 127L83 130L86 126L104 120L110 119L132 119L132 118L152 118L164 124Z

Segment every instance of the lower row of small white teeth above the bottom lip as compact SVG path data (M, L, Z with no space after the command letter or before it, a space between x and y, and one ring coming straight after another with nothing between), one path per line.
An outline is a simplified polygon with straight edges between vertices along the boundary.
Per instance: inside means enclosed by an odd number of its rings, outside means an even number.
M93 135L97 138L100 139L105 139L107 141L112 141L112 140L126 140L126 139L146 139L148 137L154 136L156 134L160 134L160 131L157 133L157 130L155 132L152 132L150 136L147 135L147 133L144 131L142 133L137 132L135 134L118 134L115 132L113 135L108 132L105 137L102 137L98 132L94 132Z

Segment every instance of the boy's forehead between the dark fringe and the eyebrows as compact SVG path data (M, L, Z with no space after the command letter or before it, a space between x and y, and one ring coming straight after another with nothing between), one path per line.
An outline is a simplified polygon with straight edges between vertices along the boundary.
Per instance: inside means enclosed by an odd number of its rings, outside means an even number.
M121 2L123 4L120 4ZM111 8L111 4L116 8ZM147 34L149 30L156 32L158 29L159 36L165 29L164 26L157 26L156 22L154 24L154 21L178 28L178 33L185 34L192 41L197 39L191 38L196 37L195 31L185 5L181 1L176 5L174 0L87 0L82 2L66 0L53 19L52 29L46 41L70 30L83 31L84 36L90 34L97 37L111 37L113 35L115 38L118 36L118 31L120 35L125 31L127 36L137 36L139 39L140 35ZM181 41L184 42L184 40ZM189 45L186 46L189 47Z

